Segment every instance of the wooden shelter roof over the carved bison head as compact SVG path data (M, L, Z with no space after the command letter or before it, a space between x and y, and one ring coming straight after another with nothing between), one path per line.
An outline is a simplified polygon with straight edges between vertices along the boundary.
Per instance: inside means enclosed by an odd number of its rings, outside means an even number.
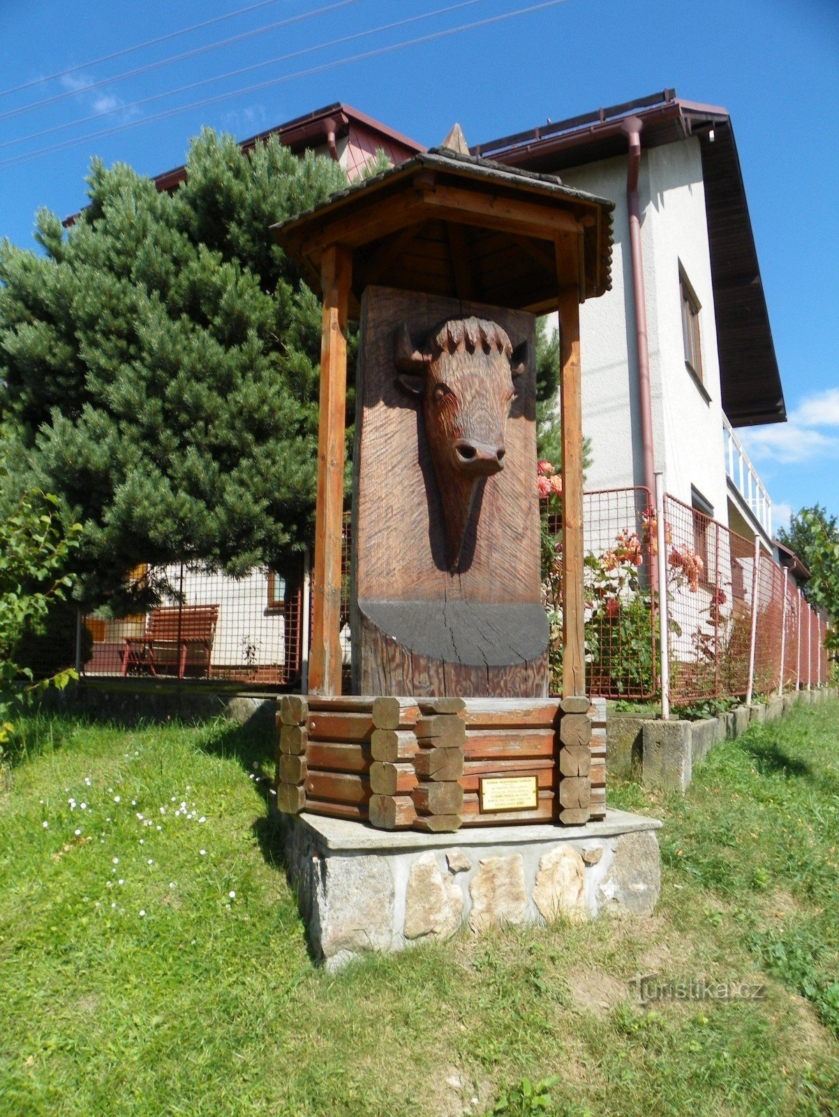
M316 292L324 250L352 250L351 314L369 284L545 313L560 276L580 300L610 288L612 209L553 174L442 147L271 230Z

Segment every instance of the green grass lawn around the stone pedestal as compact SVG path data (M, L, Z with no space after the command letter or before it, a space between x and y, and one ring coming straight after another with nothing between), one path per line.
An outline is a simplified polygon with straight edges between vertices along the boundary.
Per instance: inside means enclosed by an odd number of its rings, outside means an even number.
M684 799L610 784L665 820L649 919L330 975L266 820L267 731L32 719L0 775L0 1117L480 1114L554 1075L565 1117L837 1115L838 726L752 726ZM651 972L766 996L645 1010Z

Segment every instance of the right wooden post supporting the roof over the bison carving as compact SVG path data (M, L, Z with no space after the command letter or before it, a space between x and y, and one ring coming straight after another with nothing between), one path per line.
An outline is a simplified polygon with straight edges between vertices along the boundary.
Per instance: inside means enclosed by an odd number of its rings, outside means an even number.
M568 285L557 245L560 343L562 346L562 695L585 694L583 594L583 430L580 372L580 303ZM575 276L574 276L575 278Z

